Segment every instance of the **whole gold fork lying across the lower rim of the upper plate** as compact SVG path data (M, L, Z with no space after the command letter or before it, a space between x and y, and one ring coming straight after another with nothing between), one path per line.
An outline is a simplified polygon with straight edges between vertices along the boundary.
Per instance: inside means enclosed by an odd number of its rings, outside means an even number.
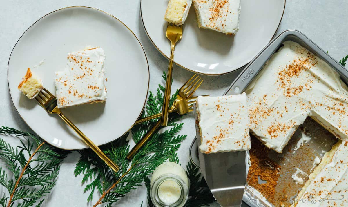
M176 42L179 41L182 37L182 25L175 25L173 23L168 23L166 36L171 41L171 56L169 58L166 89L164 91L164 101L162 106L162 116L161 116L162 126L167 126L168 124L168 110L169 110L168 108L169 108L169 99L170 99L171 85L172 85L174 49L175 49Z

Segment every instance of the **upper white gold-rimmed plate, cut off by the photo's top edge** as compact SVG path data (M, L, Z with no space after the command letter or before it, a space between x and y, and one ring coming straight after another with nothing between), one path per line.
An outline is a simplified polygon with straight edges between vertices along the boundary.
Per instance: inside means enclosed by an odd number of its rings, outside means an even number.
M141 17L148 37L165 57L170 54L164 14L168 0L141 0ZM282 19L285 0L242 0L235 36L199 29L193 5L175 47L174 62L184 69L225 74L249 63L272 39Z

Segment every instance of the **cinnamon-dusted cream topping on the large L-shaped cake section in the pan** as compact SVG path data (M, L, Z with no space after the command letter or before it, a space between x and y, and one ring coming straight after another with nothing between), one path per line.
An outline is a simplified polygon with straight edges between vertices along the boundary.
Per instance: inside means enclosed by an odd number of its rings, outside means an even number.
M283 45L246 89L252 133L281 153L310 116L348 138L348 88L339 74L298 43Z

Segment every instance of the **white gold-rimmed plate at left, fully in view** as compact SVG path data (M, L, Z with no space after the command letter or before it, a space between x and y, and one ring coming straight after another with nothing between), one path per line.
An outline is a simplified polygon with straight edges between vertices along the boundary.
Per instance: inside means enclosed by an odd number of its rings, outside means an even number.
M18 40L9 58L8 85L20 116L35 133L62 149L87 148L56 114L22 95L18 83L26 68L38 74L55 94L54 73L64 69L67 55L86 45L105 51L108 99L62 109L95 144L111 142L126 133L140 116L149 89L149 66L134 33L116 17L90 7L67 7L35 22Z

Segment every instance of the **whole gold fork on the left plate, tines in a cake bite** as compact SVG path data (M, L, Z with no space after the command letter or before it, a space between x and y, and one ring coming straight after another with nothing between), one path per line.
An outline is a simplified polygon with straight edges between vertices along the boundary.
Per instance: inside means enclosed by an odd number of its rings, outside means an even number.
M35 99L39 104L48 112L56 113L62 118L67 125L69 125L82 140L115 172L119 170L119 167L106 156L97 145L95 145L84 133L82 133L68 118L64 116L61 110L57 107L56 97L51 94L46 88L41 89L39 94L35 96Z

